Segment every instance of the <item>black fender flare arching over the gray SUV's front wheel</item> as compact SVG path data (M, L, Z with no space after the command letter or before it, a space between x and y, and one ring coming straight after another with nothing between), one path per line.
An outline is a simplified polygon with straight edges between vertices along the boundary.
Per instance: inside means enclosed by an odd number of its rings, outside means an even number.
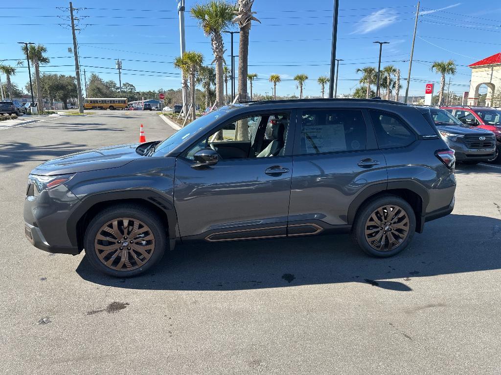
M109 203L124 199L142 199L158 207L167 216L169 239L176 238L177 215L174 209L174 203L169 198L165 197L165 195L154 189L131 189L94 193L82 199L81 203L78 204L67 221L68 237L72 245L78 245L78 221L92 206L98 203Z

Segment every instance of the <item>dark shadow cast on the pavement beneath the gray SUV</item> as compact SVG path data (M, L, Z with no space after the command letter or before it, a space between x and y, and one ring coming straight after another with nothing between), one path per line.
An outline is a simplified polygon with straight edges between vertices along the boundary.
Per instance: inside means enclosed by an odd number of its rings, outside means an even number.
M493 208L501 217L501 207ZM349 235L339 234L178 244L152 270L132 278L100 273L84 256L77 272L97 284L131 289L242 290L359 282L411 291L415 277L501 268L500 240L500 219L450 214L426 223L409 248L390 258L370 257Z

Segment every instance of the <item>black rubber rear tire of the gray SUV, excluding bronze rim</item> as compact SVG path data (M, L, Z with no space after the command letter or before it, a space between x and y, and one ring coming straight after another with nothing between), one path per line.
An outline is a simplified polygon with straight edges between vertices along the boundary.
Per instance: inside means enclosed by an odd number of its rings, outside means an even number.
M394 245L390 247L390 249L385 249L385 250L378 250L374 248L366 239L366 224L368 223L369 218L371 217L372 213L375 212L378 208L384 207L384 206L398 206L401 208L404 212L404 214L407 217L407 226L406 226L406 234L405 237L402 239L400 243L397 245ZM392 211L390 211L392 212ZM395 214L398 214L399 211L396 211ZM385 212L386 213L386 212ZM384 229L384 228L382 228ZM404 231L402 229L395 229L390 227L391 230L389 234L392 235L393 238L397 238L398 235L395 234L400 234L399 232L395 232L395 230L398 231ZM377 229L376 229L377 230ZM393 231L392 231L393 230ZM414 232L416 230L416 215L414 213L414 210L410 206L409 203L407 203L406 200L403 198L393 195L393 194L384 194L384 195L379 195L375 197L374 199L371 199L367 202L365 202L357 211L357 214L355 216L355 221L352 227L352 239L356 245L358 245L362 250L364 250L366 253L372 256L376 257L388 257L388 256L393 256L400 251L404 250L412 240L412 236L414 235ZM380 232L380 231L379 231ZM386 232L385 232L386 233ZM393 234L395 233L395 234ZM388 234L388 235L389 235ZM386 243L389 242L389 236L386 237L386 234L383 234L383 240L386 241ZM383 244L384 247L384 244Z

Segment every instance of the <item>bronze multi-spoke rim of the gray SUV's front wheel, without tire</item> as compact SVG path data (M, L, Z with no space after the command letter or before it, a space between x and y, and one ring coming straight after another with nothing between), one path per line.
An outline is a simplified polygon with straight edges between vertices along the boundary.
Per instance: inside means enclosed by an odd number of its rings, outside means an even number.
M155 250L155 237L144 222L121 217L108 221L98 230L94 248L107 267L130 271L150 259Z

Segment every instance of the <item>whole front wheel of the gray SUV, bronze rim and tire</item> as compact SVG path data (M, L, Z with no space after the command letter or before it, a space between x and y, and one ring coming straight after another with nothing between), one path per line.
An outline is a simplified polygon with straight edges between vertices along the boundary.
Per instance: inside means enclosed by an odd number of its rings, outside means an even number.
M135 204L99 212L84 236L85 253L99 271L116 277L141 274L163 256L166 230L158 215Z

